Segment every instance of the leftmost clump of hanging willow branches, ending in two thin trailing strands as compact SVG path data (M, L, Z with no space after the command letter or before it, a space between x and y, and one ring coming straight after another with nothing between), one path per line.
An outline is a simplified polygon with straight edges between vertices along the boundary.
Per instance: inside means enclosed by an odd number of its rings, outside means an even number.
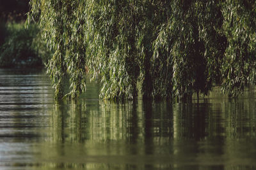
M83 3L80 1L30 1L28 21L36 20L42 28L42 36L54 55L47 65L55 96L63 98L65 76L70 76L71 92L76 97L85 90L86 74L86 25Z

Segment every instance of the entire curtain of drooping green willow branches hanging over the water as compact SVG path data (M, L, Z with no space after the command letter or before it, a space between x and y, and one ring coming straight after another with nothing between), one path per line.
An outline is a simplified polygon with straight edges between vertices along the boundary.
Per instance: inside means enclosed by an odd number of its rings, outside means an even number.
M221 85L230 96L255 84L254 1L31 0L54 50L48 73L62 98L65 76L76 97L86 74L100 97L189 99ZM139 89L140 90L140 89Z

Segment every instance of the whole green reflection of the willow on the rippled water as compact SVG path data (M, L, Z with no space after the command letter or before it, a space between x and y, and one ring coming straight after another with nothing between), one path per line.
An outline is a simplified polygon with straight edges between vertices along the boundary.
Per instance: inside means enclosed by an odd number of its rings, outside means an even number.
M50 138L42 146L39 169L255 166L252 101L172 104L79 99L54 104L51 115Z

